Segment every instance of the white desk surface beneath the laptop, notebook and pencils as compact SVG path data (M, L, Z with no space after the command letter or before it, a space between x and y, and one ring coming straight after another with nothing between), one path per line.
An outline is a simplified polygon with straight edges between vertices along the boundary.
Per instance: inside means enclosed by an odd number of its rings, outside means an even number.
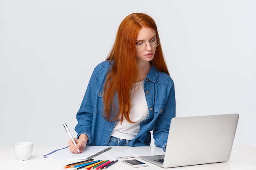
M13 153L12 147L0 148L0 169L1 170L73 170L74 168L63 169L62 167L69 163L78 162L78 160L50 159L43 155L59 148L56 147L34 147L31 158L28 161L18 161ZM128 147L115 146L114 150L145 149L152 153L162 154L161 148L155 146ZM94 157L97 159L110 159L104 154ZM139 158L138 158L139 159ZM166 168L170 170L256 170L256 148L252 146L234 146L229 161L222 163L210 163L197 166L185 166L178 168ZM148 167L132 168L119 161L110 166L108 170L165 170L151 163Z

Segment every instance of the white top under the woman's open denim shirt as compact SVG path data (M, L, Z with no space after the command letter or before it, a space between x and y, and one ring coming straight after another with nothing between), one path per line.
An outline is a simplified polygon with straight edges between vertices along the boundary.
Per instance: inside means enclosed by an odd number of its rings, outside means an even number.
M133 93L134 91L135 93ZM141 122L148 118L148 104L144 92L144 81L136 83L135 87L132 89L131 103L130 119L135 122L135 124L129 123L126 119L123 119L121 124L121 117L119 117L111 136L132 140L138 135Z

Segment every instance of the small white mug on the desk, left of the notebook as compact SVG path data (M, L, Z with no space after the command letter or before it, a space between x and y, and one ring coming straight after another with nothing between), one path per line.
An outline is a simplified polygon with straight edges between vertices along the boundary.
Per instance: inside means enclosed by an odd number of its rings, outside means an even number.
M16 158L20 161L28 160L33 150L32 142L18 142L13 144L13 150Z

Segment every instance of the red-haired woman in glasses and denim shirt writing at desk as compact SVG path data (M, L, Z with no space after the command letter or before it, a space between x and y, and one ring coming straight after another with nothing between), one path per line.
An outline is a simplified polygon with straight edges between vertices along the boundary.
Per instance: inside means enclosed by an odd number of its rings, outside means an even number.
M154 20L132 13L120 24L106 61L92 73L75 127L80 152L92 146L166 148L175 93ZM69 141L71 152L77 148Z

